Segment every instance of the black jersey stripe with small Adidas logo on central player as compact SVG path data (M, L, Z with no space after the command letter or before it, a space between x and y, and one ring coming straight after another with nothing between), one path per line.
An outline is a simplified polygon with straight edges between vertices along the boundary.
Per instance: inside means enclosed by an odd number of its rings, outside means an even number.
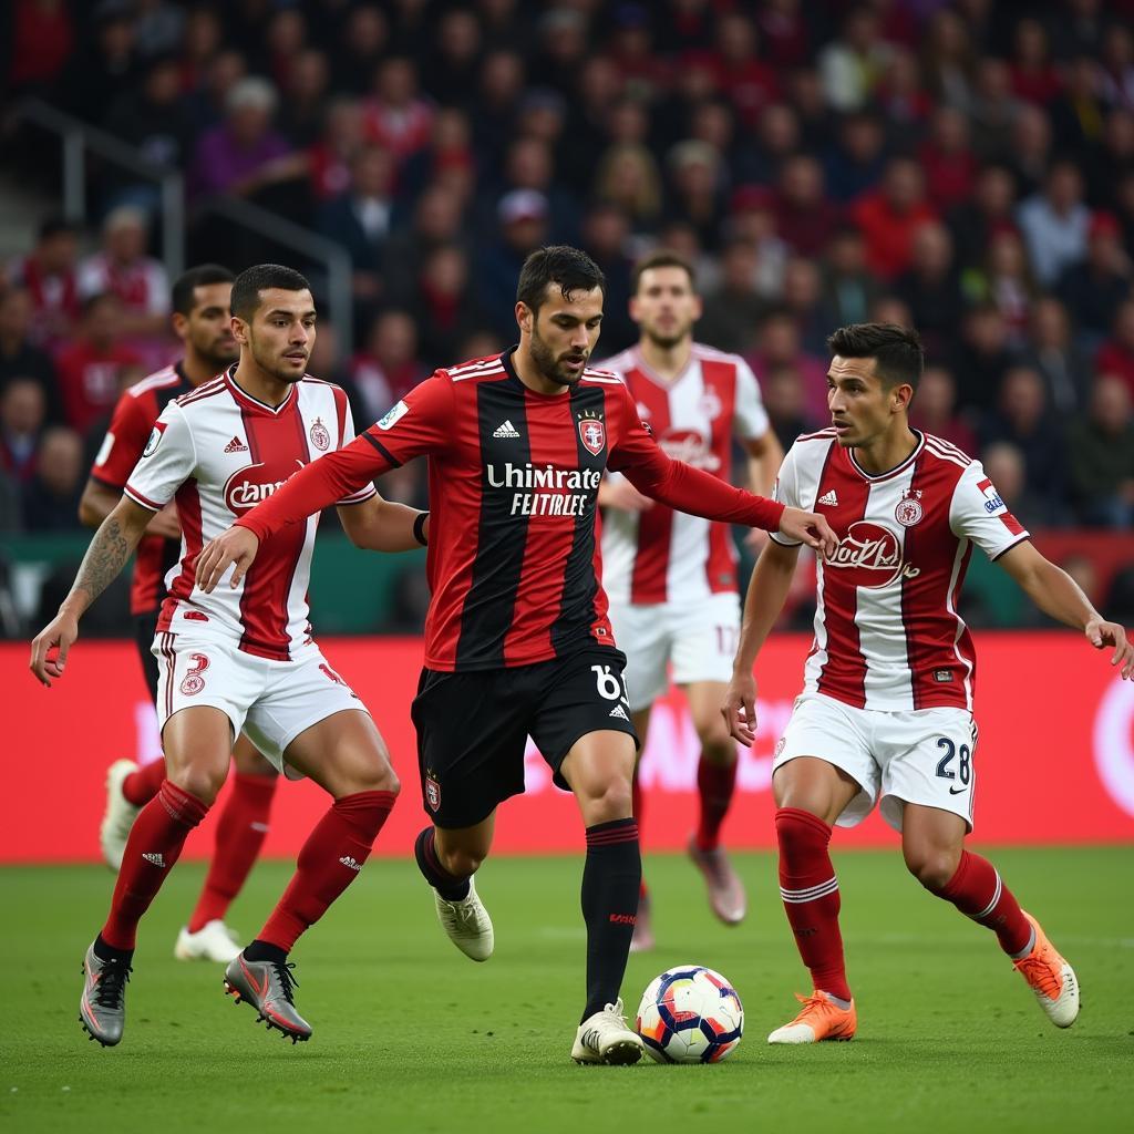
M517 389L518 388L518 389ZM511 422L518 438L496 438ZM514 493L489 484L489 466L524 468L532 460L524 388L501 375L476 388L476 428L481 445L481 509L473 578L460 612L457 668L503 667L503 644L511 628L527 545L526 516L511 515Z

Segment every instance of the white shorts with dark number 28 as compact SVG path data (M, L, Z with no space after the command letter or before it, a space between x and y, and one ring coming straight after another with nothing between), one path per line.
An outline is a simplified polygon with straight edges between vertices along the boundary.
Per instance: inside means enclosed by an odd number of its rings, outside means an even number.
M835 822L854 827L879 796L882 818L902 830L902 807L916 803L959 815L973 829L976 723L965 709L879 712L855 709L822 693L804 693L776 746L776 769L796 756L818 756L860 787Z

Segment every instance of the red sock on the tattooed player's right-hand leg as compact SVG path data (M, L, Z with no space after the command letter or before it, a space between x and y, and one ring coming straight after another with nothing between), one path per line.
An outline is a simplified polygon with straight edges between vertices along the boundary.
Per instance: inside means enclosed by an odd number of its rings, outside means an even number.
M392 792L358 792L335 801L307 836L298 869L257 940L290 951L299 934L358 877L396 798Z

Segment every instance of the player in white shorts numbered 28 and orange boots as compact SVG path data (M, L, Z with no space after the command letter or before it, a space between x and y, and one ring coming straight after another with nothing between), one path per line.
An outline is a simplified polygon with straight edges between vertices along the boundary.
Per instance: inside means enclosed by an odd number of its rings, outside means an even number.
M857 1026L839 933L831 824L853 827L881 799L909 872L996 933L1048 1018L1068 1027L1078 982L996 868L964 846L973 826L976 726L973 643L957 613L976 544L1047 615L1114 648L1134 648L1072 578L1041 556L976 460L909 428L921 341L892 324L844 327L828 340L831 425L801 437L776 497L827 516L840 543L819 568L815 642L804 689L776 750L772 789L780 895L814 991L770 1043L849 1040ZM784 603L796 541L772 535L748 585L723 712L755 729L752 667Z

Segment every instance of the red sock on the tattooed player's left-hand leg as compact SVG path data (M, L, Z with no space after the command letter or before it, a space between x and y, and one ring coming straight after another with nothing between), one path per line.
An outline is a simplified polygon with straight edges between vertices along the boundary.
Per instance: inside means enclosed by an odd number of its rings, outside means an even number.
M208 812L206 803L169 780L142 809L126 840L110 916L102 928L107 945L134 948L142 915L177 862L189 831Z

